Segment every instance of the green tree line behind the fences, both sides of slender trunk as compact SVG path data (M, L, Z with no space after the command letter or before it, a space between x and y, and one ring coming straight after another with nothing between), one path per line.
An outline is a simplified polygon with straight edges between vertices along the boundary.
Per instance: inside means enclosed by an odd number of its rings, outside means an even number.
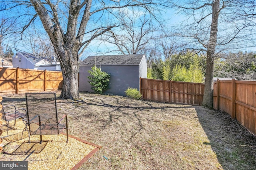
M149 62L148 62L149 63ZM148 78L204 83L206 58L191 51L158 59L148 67ZM216 57L214 77L256 80L256 53L222 53Z

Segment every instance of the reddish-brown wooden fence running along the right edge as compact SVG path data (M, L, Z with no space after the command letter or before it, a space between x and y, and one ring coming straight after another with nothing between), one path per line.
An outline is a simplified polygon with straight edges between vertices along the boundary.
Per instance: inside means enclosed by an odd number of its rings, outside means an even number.
M229 113L256 135L256 81L217 80L213 92L214 109Z

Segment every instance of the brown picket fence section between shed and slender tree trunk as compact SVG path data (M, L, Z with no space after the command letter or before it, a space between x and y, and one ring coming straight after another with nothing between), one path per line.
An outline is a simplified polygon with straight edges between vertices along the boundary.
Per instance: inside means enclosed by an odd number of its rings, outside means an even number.
M204 84L140 78L143 100L202 105Z

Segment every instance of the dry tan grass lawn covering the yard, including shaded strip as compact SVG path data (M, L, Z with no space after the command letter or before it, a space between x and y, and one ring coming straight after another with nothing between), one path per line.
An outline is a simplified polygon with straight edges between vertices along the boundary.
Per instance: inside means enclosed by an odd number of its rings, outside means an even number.
M24 97L4 95L3 102L25 107ZM122 96L80 97L57 100L70 135L102 146L80 170L256 169L256 137L226 113Z

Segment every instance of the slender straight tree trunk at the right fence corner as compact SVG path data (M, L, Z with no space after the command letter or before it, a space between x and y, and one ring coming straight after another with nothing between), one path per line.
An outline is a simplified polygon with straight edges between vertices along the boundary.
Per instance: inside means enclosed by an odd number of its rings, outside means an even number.
M206 59L206 74L205 74L205 87L204 98L202 105L212 108L213 106L213 66L214 66L214 53L217 44L218 32L218 17L220 9L220 0L213 0L212 3L212 25L210 32L210 39L207 45L207 59Z

